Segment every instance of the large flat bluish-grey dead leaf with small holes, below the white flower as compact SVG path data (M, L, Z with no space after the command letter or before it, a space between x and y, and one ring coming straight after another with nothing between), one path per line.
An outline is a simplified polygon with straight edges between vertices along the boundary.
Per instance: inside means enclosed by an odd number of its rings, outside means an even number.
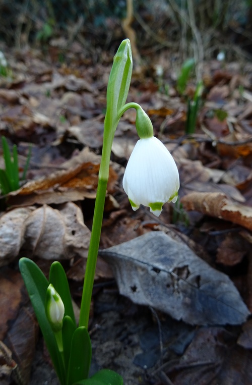
M100 251L119 291L190 324L239 324L249 311L229 278L187 245L150 232Z

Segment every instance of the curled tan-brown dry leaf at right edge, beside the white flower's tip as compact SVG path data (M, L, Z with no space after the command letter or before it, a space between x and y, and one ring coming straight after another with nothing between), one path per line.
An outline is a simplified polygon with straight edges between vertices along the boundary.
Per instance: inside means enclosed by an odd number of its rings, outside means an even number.
M233 202L222 193L193 192L181 198L186 210L200 211L252 230L252 208Z

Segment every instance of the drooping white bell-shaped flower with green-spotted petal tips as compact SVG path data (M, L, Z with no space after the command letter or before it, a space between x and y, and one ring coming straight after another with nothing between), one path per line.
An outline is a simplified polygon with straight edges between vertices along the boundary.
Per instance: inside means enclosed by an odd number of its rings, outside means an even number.
M140 139L127 164L122 186L133 210L140 204L159 216L165 202L176 202L179 176L176 163L160 140Z

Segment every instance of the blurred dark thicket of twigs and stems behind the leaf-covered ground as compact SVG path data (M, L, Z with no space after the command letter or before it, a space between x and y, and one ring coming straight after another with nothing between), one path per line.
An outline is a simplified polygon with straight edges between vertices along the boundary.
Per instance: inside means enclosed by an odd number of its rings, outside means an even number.
M137 62L163 48L180 64L218 54L230 61L252 57L251 17L252 0L1 0L0 40L17 48L78 42L99 61L100 52L135 34Z

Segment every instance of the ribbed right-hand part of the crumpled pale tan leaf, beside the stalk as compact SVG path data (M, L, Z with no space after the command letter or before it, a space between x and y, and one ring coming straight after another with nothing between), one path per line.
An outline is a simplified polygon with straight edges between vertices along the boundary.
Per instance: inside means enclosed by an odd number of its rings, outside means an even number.
M42 206L26 218L22 253L27 257L71 259L86 257L90 231L84 225L81 209L73 202L58 209Z

